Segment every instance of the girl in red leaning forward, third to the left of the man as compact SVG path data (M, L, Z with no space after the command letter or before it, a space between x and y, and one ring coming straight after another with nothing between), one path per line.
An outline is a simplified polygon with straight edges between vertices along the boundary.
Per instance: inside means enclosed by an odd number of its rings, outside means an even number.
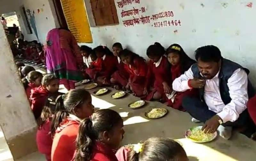
M146 95L144 93L148 65L146 60L128 49L120 52L120 58L124 63L124 69L129 73L129 80L126 85L127 90L131 90L138 97Z

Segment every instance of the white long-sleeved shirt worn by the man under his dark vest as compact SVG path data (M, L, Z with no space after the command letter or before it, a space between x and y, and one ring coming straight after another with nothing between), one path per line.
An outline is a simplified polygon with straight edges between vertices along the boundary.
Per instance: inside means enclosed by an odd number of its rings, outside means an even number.
M183 92L189 88L188 80L194 79L191 68L172 83L175 91ZM243 69L237 69L228 79L228 88L231 101L227 105L221 99L219 86L219 72L210 80L205 80L204 101L209 110L217 113L223 122L235 122L239 115L246 109L248 101L247 85L248 76Z

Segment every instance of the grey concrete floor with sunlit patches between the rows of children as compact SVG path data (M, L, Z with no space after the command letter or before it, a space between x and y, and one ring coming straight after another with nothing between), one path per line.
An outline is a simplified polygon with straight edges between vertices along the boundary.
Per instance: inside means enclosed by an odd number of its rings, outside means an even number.
M83 88L83 86L77 88ZM100 88L89 91L92 93L97 89ZM122 145L138 143L152 136L162 136L179 141L186 150L190 161L252 161L255 160L252 158L256 158L256 142L242 134L234 132L230 140L224 140L218 136L210 143L193 143L184 138L184 133L187 129L201 124L192 123L188 113L166 107L159 102L148 102L143 108L132 110L128 108L128 104L138 100L138 98L127 94L122 99L114 100L110 95L115 93L116 90L109 89L111 91L106 95L92 96L92 103L96 108L110 108L123 116L125 136ZM65 90L62 92L65 92ZM144 118L144 112L155 107L165 107L169 110L169 113L165 117L156 120ZM2 136L0 137L0 161L11 160L11 153ZM19 159L19 161L35 160L44 160L44 156L36 152Z

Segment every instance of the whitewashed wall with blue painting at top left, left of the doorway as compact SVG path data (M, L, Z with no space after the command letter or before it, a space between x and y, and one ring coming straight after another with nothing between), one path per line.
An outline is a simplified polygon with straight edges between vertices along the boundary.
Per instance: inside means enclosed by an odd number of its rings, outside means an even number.
M27 12L33 34L28 34L25 28L24 20L22 18L22 9L24 5ZM59 27L56 14L53 10L53 3L51 0L2 0L0 5L0 13L8 13L16 11L19 18L21 31L28 41L36 40L36 28L38 39L41 43L45 43L46 35L49 30ZM35 26L33 28L33 26Z

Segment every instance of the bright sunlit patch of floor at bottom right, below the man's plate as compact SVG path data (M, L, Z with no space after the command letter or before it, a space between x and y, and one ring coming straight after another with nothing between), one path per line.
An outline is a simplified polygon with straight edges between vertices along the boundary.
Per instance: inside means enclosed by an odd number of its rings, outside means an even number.
M194 143L186 138L175 139L181 146L185 149L188 156L191 159L189 161L216 161L216 160L225 160L225 161L237 161L236 159L229 157L217 150L212 149L204 144ZM197 157L195 157L197 156ZM212 158L209 160L209 158Z

